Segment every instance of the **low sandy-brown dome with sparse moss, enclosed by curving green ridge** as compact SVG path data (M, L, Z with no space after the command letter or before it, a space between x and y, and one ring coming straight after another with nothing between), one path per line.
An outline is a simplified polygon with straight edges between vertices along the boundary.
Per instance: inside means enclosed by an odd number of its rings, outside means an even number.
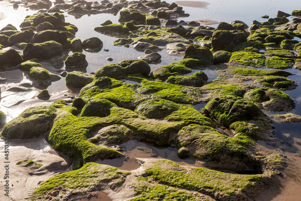
M132 130L126 126L114 124L102 128L94 137L88 139L88 141L93 142L97 139L97 142L102 142L107 145L116 145L129 141L131 134Z

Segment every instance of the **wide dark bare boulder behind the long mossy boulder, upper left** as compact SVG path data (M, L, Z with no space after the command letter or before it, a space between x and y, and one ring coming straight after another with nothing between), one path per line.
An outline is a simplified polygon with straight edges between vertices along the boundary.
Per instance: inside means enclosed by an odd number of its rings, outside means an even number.
M70 43L67 41L67 34L56 30L45 30L36 33L33 36L32 43L42 43L51 40L60 43L64 48L70 46Z

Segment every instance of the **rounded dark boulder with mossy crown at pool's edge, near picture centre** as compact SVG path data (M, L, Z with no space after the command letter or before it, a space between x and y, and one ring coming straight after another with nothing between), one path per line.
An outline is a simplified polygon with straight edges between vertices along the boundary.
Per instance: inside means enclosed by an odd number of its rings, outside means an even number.
M141 73L142 76L147 77L151 73L151 67L141 59L127 59L120 61L117 65L122 68L123 74Z

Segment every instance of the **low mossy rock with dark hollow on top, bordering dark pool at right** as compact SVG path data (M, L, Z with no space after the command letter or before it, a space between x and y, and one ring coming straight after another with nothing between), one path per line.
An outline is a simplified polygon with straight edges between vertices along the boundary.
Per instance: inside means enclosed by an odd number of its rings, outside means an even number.
M294 101L287 94L270 88L255 88L244 95L259 108L271 111L291 111L295 108Z

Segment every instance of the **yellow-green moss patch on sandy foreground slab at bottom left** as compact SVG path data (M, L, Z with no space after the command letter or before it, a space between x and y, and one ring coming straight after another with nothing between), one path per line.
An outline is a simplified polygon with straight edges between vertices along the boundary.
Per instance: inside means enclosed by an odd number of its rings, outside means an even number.
M92 190L92 186L96 186L102 182L110 182L110 187L114 189L123 183L129 171L119 170L109 165L101 165L97 163L87 163L78 170L58 174L46 180L37 188L30 196L30 200L37 200L39 196L47 199L47 193L55 187L64 186L74 191Z

